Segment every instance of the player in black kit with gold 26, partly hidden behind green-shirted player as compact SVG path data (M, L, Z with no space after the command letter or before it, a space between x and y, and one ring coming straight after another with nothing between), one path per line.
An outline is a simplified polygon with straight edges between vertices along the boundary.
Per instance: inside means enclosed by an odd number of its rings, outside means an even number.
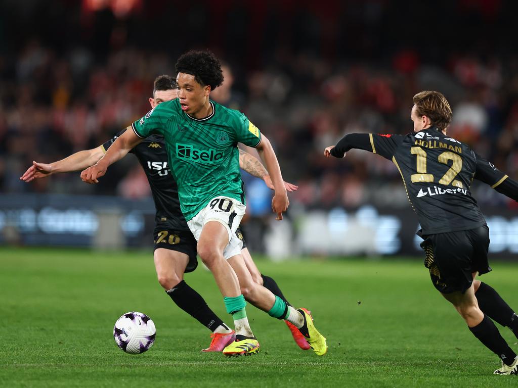
M161 102L177 98L177 95L175 79L165 75L159 76L153 84L153 97L149 99L151 108ZM34 178L90 167L103 157L106 150L123 132L124 130L92 150L79 151L57 162L47 164L34 161L33 166L21 176L21 180L31 182ZM161 136L152 135L131 152L146 172L156 208L153 256L160 285L178 307L212 332L211 344L203 351L220 352L235 339L235 333L214 314L203 297L183 280L183 274L194 271L198 265L196 240L180 211L178 187L169 170L165 142ZM255 157L240 151L240 165L252 175L262 177L268 187L273 187L266 169ZM285 186L288 191L296 189L296 186L290 183L285 183ZM288 303L275 280L258 272L239 229L236 234L243 241L241 254L255 282ZM308 342L295 325L287 321L285 323L290 328L297 345L301 349L308 350L310 348Z

